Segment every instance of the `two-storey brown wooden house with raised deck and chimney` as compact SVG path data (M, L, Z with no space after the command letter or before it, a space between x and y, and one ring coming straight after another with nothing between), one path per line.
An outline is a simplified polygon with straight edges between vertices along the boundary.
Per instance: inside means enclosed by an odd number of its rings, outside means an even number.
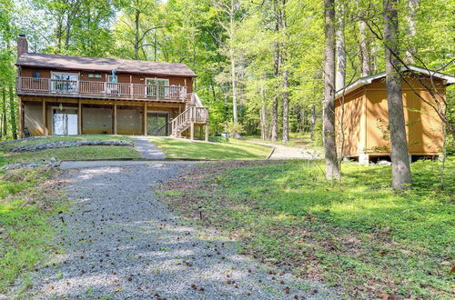
M207 138L208 110L184 64L28 52L17 43L19 133Z

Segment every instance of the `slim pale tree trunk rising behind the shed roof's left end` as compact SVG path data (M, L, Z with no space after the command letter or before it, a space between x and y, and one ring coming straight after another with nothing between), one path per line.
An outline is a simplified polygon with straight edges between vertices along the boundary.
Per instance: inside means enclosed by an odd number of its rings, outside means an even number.
M346 45L344 42L344 2L337 1L337 74L335 75L335 90L339 91L346 81Z

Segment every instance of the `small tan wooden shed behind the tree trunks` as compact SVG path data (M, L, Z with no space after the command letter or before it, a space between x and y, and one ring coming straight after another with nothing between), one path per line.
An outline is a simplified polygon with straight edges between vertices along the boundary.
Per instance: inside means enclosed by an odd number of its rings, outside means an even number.
M425 85L432 86L439 95L445 97L446 86L455 84L455 76L432 71L429 74L426 69L416 66L411 66L410 69L410 72L405 72L406 80L402 80L410 158L414 155L440 155L443 142L442 122L436 111L426 103L434 104L435 101ZM359 159L362 164L379 158L389 159L386 74L360 78L339 90L335 99L339 155Z

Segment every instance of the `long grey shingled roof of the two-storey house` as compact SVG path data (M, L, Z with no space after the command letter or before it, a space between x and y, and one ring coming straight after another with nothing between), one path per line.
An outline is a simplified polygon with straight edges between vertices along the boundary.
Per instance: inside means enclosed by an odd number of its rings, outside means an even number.
M196 77L196 74L185 64L119 58L25 53L19 57L15 65L78 71L112 72L112 70L116 70L119 73Z

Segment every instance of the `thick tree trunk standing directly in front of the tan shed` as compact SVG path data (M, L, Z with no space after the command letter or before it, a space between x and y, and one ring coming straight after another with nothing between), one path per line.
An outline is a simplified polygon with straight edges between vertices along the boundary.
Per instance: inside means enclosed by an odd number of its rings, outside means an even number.
M384 43L386 45L386 87L392 161L392 187L410 186L410 157L404 122L401 78L399 76L398 0L382 0L384 6Z

